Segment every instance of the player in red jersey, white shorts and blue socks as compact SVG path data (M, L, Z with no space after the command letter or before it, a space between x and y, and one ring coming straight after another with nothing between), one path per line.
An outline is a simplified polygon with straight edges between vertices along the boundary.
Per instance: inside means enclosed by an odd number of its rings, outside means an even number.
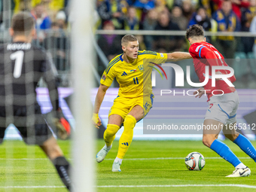
M231 163L236 170L227 177L244 177L251 174L251 170L245 166L227 145L218 140L221 129L224 135L242 149L256 162L256 150L251 142L236 132L236 111L239 105L239 97L234 87L230 87L223 79L216 79L215 87L212 87L212 66L227 66L224 57L212 45L206 42L202 26L190 26L186 32L186 38L190 42L189 53L194 59L194 68L200 82L206 78L206 66L209 66L209 81L198 89L194 95L200 98L207 94L209 108L206 111L203 130L203 144L211 148L217 154ZM216 70L216 75L229 74L228 70ZM235 76L228 78L236 81ZM212 94L214 91L214 95ZM196 96L196 97L197 97Z

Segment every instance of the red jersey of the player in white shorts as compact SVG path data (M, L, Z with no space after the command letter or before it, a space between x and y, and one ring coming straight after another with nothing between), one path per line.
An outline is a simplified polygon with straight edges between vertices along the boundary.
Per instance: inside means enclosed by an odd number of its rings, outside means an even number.
M197 42L190 45L189 53L193 57L194 68L199 78L199 81L202 83L206 77L206 66L209 66L209 81L204 86L208 96L208 99L212 96L213 90L222 90L224 93L232 93L236 89L235 87L230 87L223 80L216 80L215 87L212 87L212 66L227 66L227 63L224 61L224 57L218 50L206 41ZM222 74L229 74L228 70L216 70ZM233 83L236 81L235 76L233 75L229 80ZM222 94L221 91L215 91L214 94Z

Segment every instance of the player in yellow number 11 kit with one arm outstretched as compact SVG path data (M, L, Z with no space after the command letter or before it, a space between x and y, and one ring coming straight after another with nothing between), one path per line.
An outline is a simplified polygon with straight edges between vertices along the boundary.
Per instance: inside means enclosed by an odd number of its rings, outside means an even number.
M114 78L120 84L118 96L108 114L108 126L104 133L105 146L96 155L98 163L104 160L112 147L115 134L123 123L123 133L120 136L117 157L112 171L120 172L120 165L126 151L133 140L133 128L136 122L148 114L152 107L154 95L151 85L151 66L153 63L190 59L190 53L156 53L154 51L139 51L139 42L133 35L125 35L121 40L123 54L112 59L102 75L93 109L93 123L99 128L99 108L105 93ZM152 62L148 61L152 59Z

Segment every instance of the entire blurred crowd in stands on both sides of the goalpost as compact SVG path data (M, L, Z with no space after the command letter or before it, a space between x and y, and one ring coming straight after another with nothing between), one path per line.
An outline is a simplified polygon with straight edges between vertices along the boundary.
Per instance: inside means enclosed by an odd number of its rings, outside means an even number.
M95 0L93 22L102 30L162 30L185 31L193 24L210 32L256 32L256 0ZM5 0L0 0L0 31L6 30ZM35 18L35 41L53 55L59 71L69 70L69 32L72 15L69 0L10 0L11 14L29 11ZM122 53L123 35L96 35L99 47L108 61ZM140 50L160 53L187 51L184 35L137 35ZM227 59L255 59L254 37L211 36L207 41ZM105 63L99 59L102 75ZM234 66L239 66L237 63ZM245 70L244 67L239 66ZM242 69L237 70L241 72ZM248 77L246 69L243 74ZM256 68L255 68L256 69ZM256 79L256 70L255 70Z

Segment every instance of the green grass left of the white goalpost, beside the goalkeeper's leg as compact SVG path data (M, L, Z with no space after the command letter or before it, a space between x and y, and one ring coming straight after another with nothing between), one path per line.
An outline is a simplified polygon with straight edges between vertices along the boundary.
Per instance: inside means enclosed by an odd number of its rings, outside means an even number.
M58 141L66 157L70 142ZM18 159L18 160L16 160ZM0 145L0 191L67 191L56 169L38 146L22 141L4 141ZM12 188L19 186L19 188ZM60 188L20 188L22 186L61 186ZM10 187L10 188L7 188Z

